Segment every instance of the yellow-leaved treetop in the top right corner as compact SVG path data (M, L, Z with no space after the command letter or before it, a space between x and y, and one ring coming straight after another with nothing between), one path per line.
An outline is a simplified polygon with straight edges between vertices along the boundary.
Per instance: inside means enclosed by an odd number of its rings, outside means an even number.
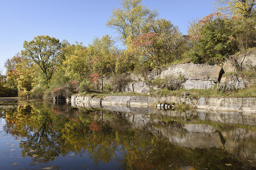
M215 0L214 4L216 11L227 13L233 17L250 18L256 14L255 0Z

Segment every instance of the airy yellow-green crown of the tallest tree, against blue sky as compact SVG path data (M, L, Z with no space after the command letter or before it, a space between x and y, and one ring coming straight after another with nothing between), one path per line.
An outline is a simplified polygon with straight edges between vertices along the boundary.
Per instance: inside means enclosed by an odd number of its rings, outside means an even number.
M119 33L119 39L126 43L130 37L135 39L141 32L143 25L158 16L156 10L150 11L141 4L141 0L123 0L122 7L112 10L112 16L106 25Z

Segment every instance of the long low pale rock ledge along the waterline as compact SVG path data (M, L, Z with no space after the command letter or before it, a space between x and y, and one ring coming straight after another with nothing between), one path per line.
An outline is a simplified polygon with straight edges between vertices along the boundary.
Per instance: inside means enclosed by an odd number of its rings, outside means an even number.
M256 97L201 97L199 100L186 96L106 96L102 98L72 95L71 102L85 102L97 104L97 106L108 104L152 106L158 103L185 103L198 109L233 110L256 112Z

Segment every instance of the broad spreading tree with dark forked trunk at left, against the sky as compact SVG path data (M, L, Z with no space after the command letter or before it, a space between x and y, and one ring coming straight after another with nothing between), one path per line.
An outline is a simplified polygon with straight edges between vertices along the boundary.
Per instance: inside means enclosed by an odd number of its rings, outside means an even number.
M29 42L24 41L23 48L21 54L36 63L45 74L46 80L50 81L57 62L56 58L61 50L59 39L40 35Z

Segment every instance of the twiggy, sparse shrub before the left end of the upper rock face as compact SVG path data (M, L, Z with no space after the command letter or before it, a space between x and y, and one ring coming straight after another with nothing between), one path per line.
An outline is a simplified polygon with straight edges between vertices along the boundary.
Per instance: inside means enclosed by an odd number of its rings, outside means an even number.
M163 86L168 90L178 90L185 81L186 79L181 75L179 75L179 77L167 75L163 80Z

